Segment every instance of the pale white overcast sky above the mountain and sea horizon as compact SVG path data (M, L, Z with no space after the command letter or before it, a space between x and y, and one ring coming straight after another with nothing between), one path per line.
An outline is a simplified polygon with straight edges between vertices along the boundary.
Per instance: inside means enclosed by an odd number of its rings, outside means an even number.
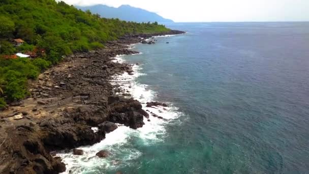
M130 5L175 22L309 21L309 0L63 0L70 5Z

